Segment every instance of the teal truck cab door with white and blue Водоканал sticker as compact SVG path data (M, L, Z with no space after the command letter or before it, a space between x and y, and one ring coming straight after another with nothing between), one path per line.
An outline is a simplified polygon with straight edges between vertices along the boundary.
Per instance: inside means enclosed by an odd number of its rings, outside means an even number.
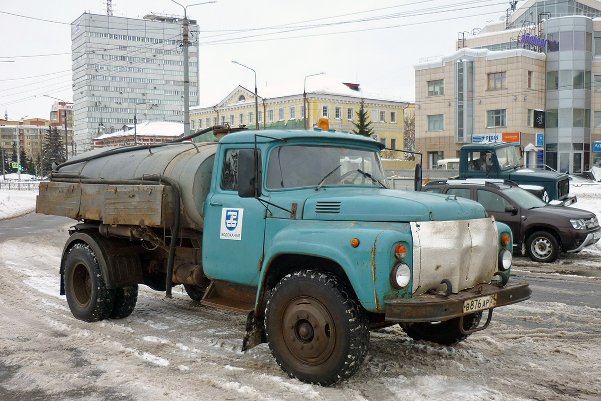
M265 207L255 198L238 196L238 150L218 154L205 204L203 269L212 279L256 286L263 262Z

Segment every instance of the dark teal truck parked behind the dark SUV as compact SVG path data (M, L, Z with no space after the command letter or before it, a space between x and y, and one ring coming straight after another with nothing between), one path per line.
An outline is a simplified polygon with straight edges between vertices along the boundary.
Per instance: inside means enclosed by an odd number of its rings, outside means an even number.
M520 164L516 147L508 142L475 142L463 145L459 151L459 179L510 180L535 192L542 189L544 201L575 203L570 197L570 180L567 174L556 171L524 168ZM542 188L541 188L542 187ZM536 192L535 192L536 193Z

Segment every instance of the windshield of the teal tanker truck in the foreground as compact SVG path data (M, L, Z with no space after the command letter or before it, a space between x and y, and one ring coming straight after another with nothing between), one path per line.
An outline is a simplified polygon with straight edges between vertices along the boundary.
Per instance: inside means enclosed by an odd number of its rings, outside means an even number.
M271 152L267 169L267 188L270 189L329 185L388 186L379 153L365 149L284 145Z

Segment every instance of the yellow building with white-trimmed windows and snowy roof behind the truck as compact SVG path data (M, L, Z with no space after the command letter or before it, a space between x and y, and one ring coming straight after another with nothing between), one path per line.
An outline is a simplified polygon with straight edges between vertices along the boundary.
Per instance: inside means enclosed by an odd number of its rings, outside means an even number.
M382 99L364 93L358 84L348 84L325 77L312 79L307 87L308 129L319 127L322 118L328 121L328 129L352 132L357 121L359 103L363 98L365 108L374 130L374 139L386 147L403 149L403 115L409 102ZM301 85L261 88L255 108L252 90L238 86L214 106L191 108L190 128L197 131L210 126L230 124L255 129L258 117L259 129L304 129L304 94ZM258 108L258 114L256 109Z

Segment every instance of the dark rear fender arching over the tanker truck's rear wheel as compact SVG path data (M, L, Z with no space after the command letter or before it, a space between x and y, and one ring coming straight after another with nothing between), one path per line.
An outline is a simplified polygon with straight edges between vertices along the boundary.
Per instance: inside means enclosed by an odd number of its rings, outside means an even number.
M79 242L86 243L94 251L107 289L131 286L143 281L139 257L132 252L131 247L118 246L116 241L106 239L97 233L76 231L69 237L63 248L60 269L61 295L65 295L64 262L72 246Z

